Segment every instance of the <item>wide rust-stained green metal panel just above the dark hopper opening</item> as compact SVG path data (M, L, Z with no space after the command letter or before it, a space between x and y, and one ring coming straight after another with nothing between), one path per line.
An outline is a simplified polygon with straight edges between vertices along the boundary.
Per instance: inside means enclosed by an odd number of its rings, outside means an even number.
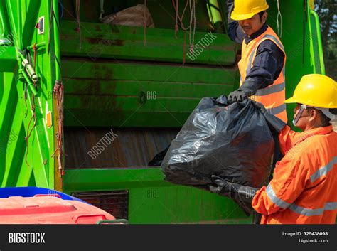
M239 75L233 68L65 58L63 78L67 126L181 127L202 97L228 94Z

